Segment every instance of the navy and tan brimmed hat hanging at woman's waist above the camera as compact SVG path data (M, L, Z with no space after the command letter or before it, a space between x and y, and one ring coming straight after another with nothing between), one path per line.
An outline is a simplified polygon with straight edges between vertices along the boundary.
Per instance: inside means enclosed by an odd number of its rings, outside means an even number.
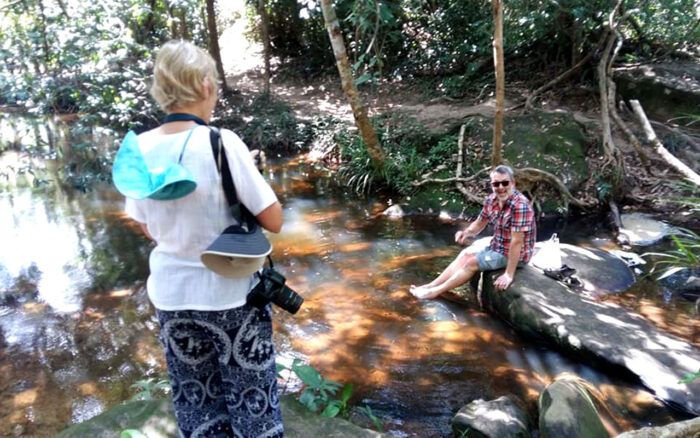
M259 226L251 231L239 225L226 228L200 255L204 266L228 278L247 277L265 263L272 245Z

